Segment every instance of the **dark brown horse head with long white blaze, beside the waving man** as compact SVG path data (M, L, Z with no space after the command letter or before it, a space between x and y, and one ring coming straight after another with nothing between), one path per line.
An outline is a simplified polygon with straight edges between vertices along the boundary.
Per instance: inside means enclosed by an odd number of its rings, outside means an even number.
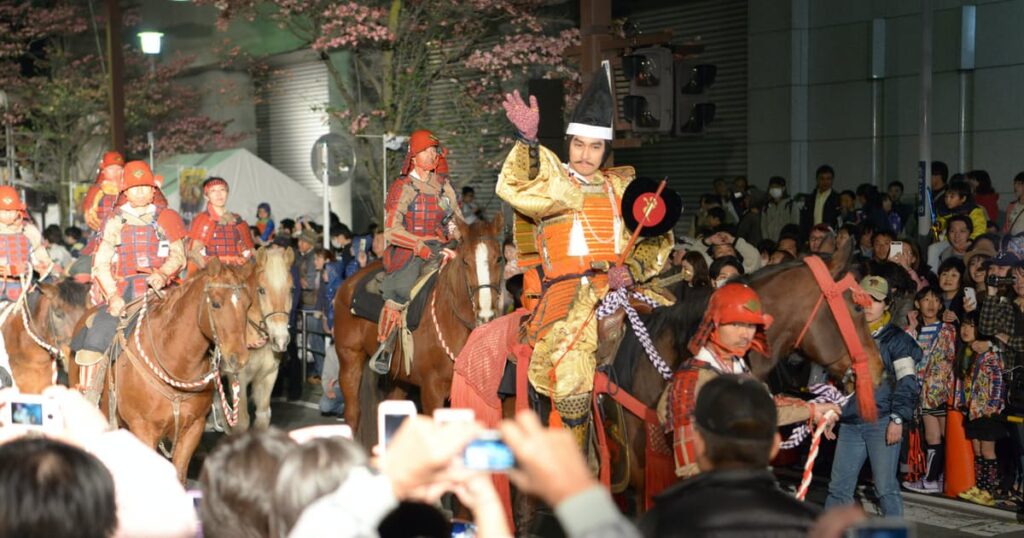
M494 320L502 309L502 275L505 259L502 252L504 221L501 213L487 222L480 219L472 224L457 223L462 242L456 252L457 281L465 282L466 293L473 304L476 325ZM453 282L459 293L461 284Z

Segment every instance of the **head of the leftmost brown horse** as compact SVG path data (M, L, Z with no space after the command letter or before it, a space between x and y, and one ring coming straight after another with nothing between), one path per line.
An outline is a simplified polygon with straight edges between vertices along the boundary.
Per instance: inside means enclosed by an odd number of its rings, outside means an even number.
M60 348L67 347L75 333L75 325L89 307L89 286L65 279L56 284L39 284L42 299L32 313L32 323L42 334L39 336Z

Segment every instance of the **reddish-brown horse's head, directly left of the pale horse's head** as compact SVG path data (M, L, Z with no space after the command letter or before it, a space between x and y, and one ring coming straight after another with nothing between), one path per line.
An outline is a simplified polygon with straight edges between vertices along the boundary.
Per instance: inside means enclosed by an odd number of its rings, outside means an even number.
M246 314L252 305L252 297L247 280L253 271L251 263L230 267L212 258L196 279L197 285L202 284L203 293L203 303L199 306L200 330L219 348L226 373L238 373L249 361Z

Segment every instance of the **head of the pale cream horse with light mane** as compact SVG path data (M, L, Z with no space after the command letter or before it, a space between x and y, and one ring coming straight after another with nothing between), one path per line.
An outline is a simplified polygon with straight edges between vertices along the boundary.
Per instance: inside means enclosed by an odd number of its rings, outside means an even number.
M269 340L270 348L288 348L288 314L292 311L292 249L262 247L256 252L256 266L249 276L249 293L255 299L249 307L249 328Z

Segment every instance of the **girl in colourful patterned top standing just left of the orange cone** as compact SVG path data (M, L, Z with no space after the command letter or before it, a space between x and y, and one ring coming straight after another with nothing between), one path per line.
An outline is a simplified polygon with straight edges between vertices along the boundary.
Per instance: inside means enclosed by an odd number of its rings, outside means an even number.
M943 321L943 293L928 287L914 296L916 314L910 317L908 332L923 353L921 415L925 425L925 474L903 487L918 493L942 491L945 468L946 402L952 396L953 361L956 357L956 328Z

